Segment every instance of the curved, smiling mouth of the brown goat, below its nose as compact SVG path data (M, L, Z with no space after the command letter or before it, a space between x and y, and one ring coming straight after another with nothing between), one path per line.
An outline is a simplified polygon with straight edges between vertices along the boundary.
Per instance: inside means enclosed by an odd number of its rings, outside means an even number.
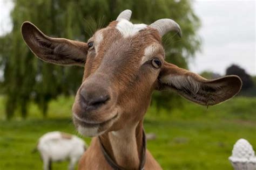
M107 124L110 124L118 117L118 113L116 113L112 118L107 119L106 121L100 122L100 123L92 123L91 121L86 121L84 118L80 118L76 114L73 114L73 121L75 124L79 124L80 126L83 126L85 128L98 128L102 126L106 126Z

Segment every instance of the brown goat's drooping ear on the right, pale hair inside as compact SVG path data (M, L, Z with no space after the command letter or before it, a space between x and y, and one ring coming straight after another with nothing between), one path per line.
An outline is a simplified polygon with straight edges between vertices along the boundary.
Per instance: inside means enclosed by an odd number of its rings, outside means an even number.
M214 105L238 94L242 81L235 75L207 80L198 74L165 62L159 74L158 87L159 90L173 89L187 100L201 105Z

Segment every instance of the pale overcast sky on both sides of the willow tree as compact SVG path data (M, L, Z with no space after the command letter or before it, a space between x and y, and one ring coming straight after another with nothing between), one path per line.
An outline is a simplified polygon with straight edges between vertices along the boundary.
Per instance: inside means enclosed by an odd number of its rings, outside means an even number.
M255 1L195 1L201 19L202 51L190 62L190 70L225 74L232 63L256 75ZM0 0L0 36L11 30L9 13L13 4ZM181 28L182 29L182 28Z

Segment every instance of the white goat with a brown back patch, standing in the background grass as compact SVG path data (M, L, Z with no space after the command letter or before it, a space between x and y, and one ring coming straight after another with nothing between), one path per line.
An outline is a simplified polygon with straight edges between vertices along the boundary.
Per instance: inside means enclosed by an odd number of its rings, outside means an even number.
M50 170L52 162L66 159L70 160L68 169L73 170L76 162L86 151L86 143L72 134L48 132L39 138L37 150L41 154L44 170Z

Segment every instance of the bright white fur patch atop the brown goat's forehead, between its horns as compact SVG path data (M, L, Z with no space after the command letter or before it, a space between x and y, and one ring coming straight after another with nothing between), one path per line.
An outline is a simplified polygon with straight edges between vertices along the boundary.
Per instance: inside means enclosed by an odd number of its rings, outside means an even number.
M122 19L118 22L116 29L120 31L123 37L131 37L137 34L140 30L146 29L146 24L132 24L128 20Z

